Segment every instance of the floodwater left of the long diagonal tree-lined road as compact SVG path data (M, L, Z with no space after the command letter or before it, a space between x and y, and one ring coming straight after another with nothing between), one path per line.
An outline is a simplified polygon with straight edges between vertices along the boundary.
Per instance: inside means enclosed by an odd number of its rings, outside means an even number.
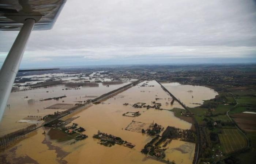
M75 104L78 103L77 101L90 99L90 97L85 98L85 96L100 96L104 93L108 93L109 91L127 85L128 83L130 82L124 82L123 84L118 85L109 85L109 87L99 83L99 87L79 87L80 89L76 90L62 90L67 87L65 87L65 85L61 85L12 92L7 102L7 104L10 104L10 108L6 107L3 119L0 123L0 136L29 126L27 123L16 122L22 118L27 116L43 117L47 114L53 114L58 111L55 109L45 109L50 105L62 103L62 101L67 104ZM48 91L48 93L46 91ZM63 95L66 95L67 97L59 100L52 99L48 101L39 101L39 99L60 97ZM59 110L59 112L60 111L61 110Z

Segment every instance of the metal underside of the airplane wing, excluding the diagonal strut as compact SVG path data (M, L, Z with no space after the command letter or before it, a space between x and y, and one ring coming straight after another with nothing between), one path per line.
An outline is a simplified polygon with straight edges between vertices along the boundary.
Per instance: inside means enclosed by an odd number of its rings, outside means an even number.
M67 0L0 0L0 30L19 31L23 23L7 16L38 12L41 19L35 23L33 30L50 30L54 26L61 9Z

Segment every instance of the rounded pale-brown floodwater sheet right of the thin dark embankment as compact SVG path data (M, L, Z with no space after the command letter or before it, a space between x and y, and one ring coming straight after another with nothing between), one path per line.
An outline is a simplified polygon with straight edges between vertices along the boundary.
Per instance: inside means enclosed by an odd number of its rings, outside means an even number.
M181 85L180 83L162 83L162 85L190 108L200 106L203 100L212 99L218 95L216 91L204 86Z

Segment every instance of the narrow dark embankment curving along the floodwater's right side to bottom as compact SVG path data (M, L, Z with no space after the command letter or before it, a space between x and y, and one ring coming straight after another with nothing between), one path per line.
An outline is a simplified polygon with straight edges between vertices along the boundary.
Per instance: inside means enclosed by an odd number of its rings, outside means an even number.
M185 110L187 110L189 113L192 113L190 111L189 108L187 108L187 106L185 106L179 99L177 99L172 93L169 92L169 90L167 90L159 81L155 80L156 82L159 83L159 85L161 85L162 89L164 91L166 91L166 93L168 93L174 100L176 100ZM197 164L198 163L198 157L199 157L199 148L200 148L200 130L199 130L199 126L196 122L196 119L193 115L191 115L194 125L195 125L195 129L196 129L196 136L197 136L197 144L196 144L196 148L195 148L195 155L194 155L194 159L193 159L193 164Z

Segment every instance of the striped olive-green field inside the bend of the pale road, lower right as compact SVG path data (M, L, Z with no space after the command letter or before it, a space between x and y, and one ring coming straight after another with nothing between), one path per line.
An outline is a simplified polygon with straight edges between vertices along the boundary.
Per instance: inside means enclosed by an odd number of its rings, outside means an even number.
M231 153L247 146L246 138L238 129L222 129L218 134L224 153Z

